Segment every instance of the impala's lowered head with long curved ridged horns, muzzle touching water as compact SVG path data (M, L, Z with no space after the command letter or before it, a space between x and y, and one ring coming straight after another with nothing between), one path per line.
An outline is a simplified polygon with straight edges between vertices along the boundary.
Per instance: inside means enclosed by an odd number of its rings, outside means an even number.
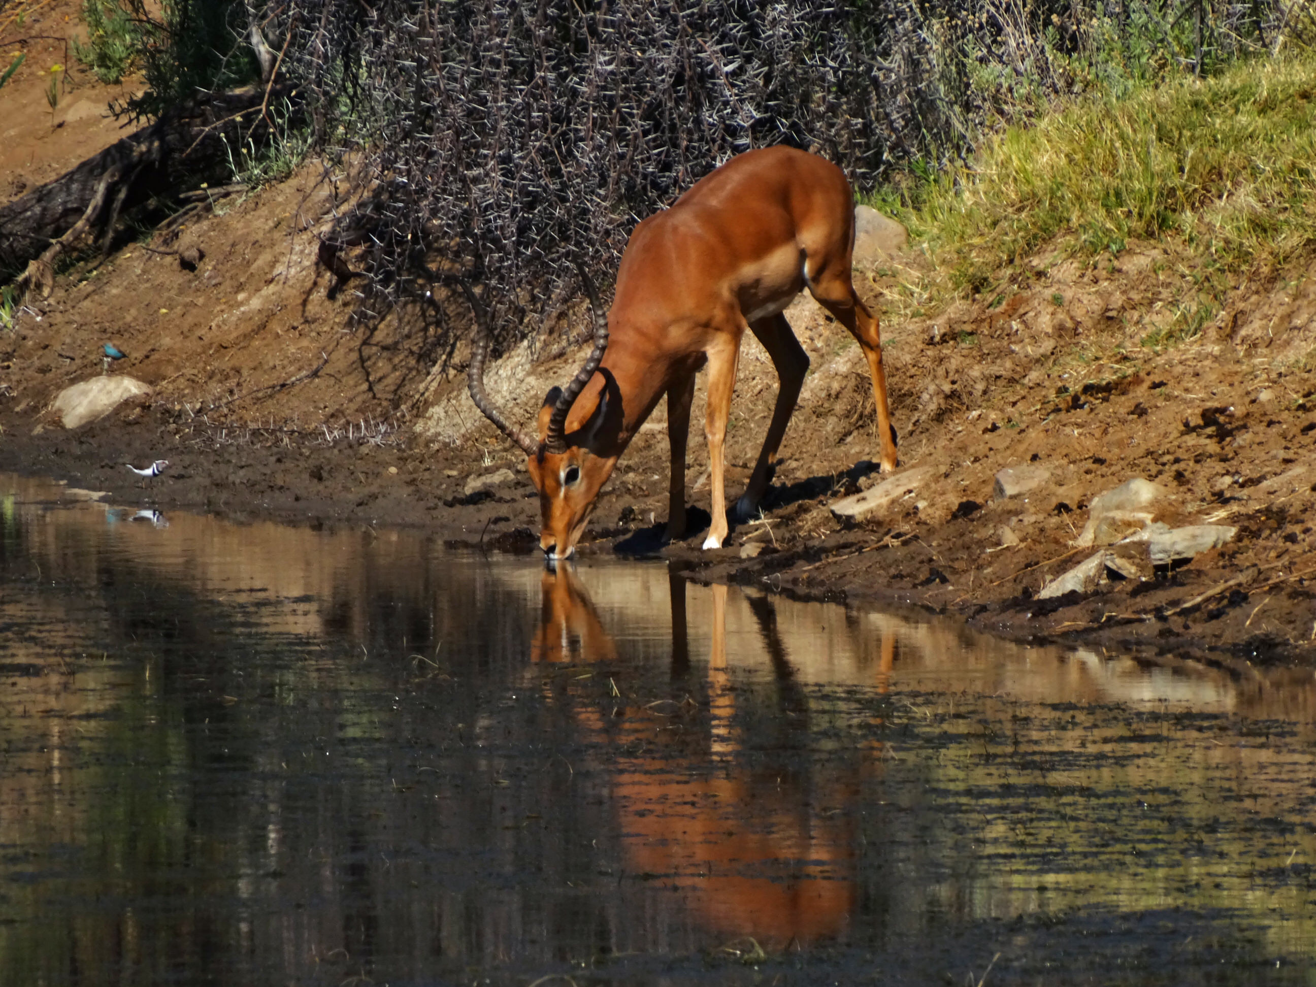
M538 437L530 438L520 429L508 424L501 412L484 393L484 358L488 355L488 318L475 292L462 283L471 308L475 309L476 334L471 347L471 366L467 371L467 387L471 400L484 416L501 429L503 434L525 450L526 468L530 482L540 494L540 547L550 561L570 558L576 542L584 533L584 526L594 513L599 491L617 462L616 455L596 455L595 442L608 418L608 392L599 392L599 400L584 424L567 432L567 416L576 397L599 368L604 350L608 347L608 320L599 305L594 284L582 270L590 304L594 308L594 350L586 359L566 390L554 387L549 391L540 409Z

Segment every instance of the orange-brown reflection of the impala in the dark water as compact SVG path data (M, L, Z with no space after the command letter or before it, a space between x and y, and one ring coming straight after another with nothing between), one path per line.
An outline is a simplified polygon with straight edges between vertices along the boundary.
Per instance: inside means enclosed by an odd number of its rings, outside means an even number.
M767 653L765 688L741 675L746 655L728 659L728 587L687 588L672 574L669 588L672 696L682 699L617 696L611 711L579 697L572 703L572 717L612 770L626 869L682 892L692 919L728 938L753 937L765 949L834 941L849 928L857 901L859 834L846 807L866 779L880 774L883 751L869 745L844 757L812 754L809 699L770 597L733 596L734 605L749 607ZM709 605L699 608L711 615L703 683L690 654L687 592L708 595L701 603ZM617 658L569 565L544 574L532 655L537 662ZM882 692L894 658L894 638L884 638L874 683Z

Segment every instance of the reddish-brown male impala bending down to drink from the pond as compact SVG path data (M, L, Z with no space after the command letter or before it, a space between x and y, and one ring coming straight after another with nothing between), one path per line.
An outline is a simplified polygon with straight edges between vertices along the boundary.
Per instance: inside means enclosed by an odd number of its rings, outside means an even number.
M607 318L586 279L595 346L566 391L549 391L540 411L538 440L513 428L484 393L488 325L467 290L479 322L468 375L471 399L529 455L544 520L540 544L550 559L571 555L600 488L663 395L671 443L667 537L684 533L690 404L695 372L705 363L712 524L704 547L721 547L728 532L722 442L741 338L746 329L758 337L780 379L767 438L736 505L747 517L771 480L809 366L782 316L805 286L863 347L878 409L882 470L896 467L882 340L878 320L850 282L853 249L854 197L838 167L791 147L733 158L670 209L636 226Z

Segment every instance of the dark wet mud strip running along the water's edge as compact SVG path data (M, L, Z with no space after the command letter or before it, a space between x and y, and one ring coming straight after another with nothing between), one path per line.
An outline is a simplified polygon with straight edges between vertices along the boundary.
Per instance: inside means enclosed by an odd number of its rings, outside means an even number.
M326 442L311 432L199 433L182 417L176 409L142 407L79 432L37 428L33 434L33 418L0 415L0 470L104 491L113 503L207 512L240 522L422 528L454 547L524 554L528 566L540 565L537 500L515 466L512 482L468 495L463 492L468 478L491 468L470 451L449 450L440 458L404 434ZM150 482L124 466L153 458L167 458L170 466ZM838 488L854 487L873 470L861 462L840 478L815 478L813 486L826 492L812 499L801 496L801 487L809 492L808 483L778 484L765 519L800 500L825 505ZM783 507L783 501L792 503ZM609 484L582 553L666 558L700 583L755 586L796 599L861 607L912 607L1012 641L1188 659L1241 678L1259 669L1291 667L1298 674L1316 666L1316 642L1309 640L1316 619L1313 583L1303 575L1316 563L1302 544L1271 538L1258 544L1252 530L1236 546L1204 553L1145 580L1112 582L1086 596L1037 600L1040 579L1088 553L1063 544L1025 544L1000 553L1012 555L1004 578L987 578L996 572L983 572L991 554L983 551L982 532L991 526L994 513L1008 508L1003 504L980 505L936 526L907 515L895 522L842 525L817 537L788 522L742 524L728 546L716 551L699 547L707 512L697 507L690 508L690 537L662 545L665 517L658 508L650 499L637 509L625 483ZM607 519L617 520L608 524ZM1277 551L1277 546L1294 551ZM1277 554L1279 565L1258 565L1263 555ZM1232 591L1184 607L1230 580L1236 583ZM1307 634L1302 634L1304 628Z

